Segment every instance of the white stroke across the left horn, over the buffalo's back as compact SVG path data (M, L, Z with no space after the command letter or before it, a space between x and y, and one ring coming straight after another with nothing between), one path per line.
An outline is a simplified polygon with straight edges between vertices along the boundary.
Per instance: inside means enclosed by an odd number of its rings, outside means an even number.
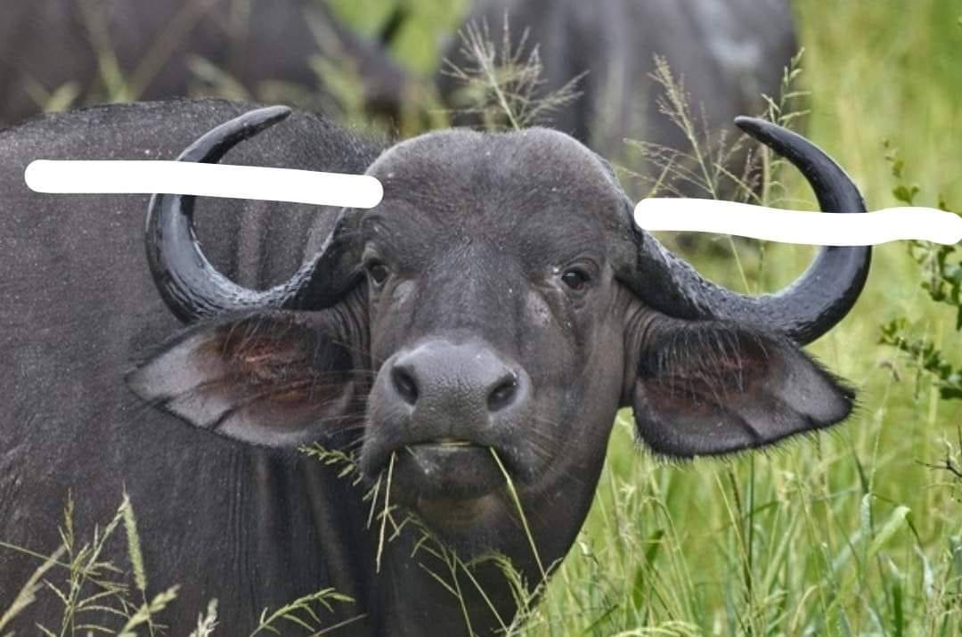
M38 160L24 179L33 191L59 194L166 192L345 208L373 208L384 196L368 175L167 161Z

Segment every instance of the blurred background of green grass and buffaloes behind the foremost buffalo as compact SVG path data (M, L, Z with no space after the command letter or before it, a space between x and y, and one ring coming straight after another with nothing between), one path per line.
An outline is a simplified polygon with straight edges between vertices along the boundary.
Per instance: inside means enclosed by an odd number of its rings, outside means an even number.
M539 123L615 162L636 196L814 209L727 123L765 115L845 166L870 210L962 212L958 0L0 4L0 127L171 95L285 102L389 138ZM745 293L813 254L661 238ZM875 251L855 310L810 347L859 392L830 433L667 466L620 418L589 522L519 634L962 634L960 261Z

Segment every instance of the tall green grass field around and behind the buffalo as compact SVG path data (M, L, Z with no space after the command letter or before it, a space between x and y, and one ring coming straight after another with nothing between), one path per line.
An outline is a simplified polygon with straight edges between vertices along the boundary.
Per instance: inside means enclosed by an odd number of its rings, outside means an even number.
M370 32L390 13L374 0L332 4ZM457 22L451 4L407 0L413 19L395 50L404 64L436 64L435 43ZM899 185L918 185L916 203L941 197L962 211L962 4L794 6L806 135L848 169L870 208L897 205ZM783 201L811 206L786 176ZM811 254L747 246L741 270L690 256L758 293L797 276ZM962 476L931 467L962 466L962 401L940 399L918 365L878 343L882 324L906 318L911 336L962 365L955 311L930 300L922 280L904 244L878 248L856 309L811 346L859 391L858 412L830 433L670 466L634 444L622 414L585 529L519 634L962 634Z

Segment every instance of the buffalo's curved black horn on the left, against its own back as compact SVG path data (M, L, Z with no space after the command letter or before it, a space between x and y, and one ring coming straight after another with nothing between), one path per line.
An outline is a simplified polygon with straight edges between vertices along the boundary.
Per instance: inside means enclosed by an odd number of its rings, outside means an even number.
M215 164L227 151L291 115L274 106L251 111L206 133L178 161ZM258 292L218 272L200 249L193 229L195 197L155 194L147 211L147 263L170 311L184 322L258 308L332 304L359 274L358 260L344 237L350 219L342 212L320 251L285 283Z

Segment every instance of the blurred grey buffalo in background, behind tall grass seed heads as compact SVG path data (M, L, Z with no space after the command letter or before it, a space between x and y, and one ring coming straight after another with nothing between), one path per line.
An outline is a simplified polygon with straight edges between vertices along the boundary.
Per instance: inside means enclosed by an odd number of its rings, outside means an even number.
M506 119L493 96L476 104L478 91L490 94L490 83L465 81L464 71L479 64L474 36L480 32L516 74L537 53L544 72L529 94L514 99L523 80L512 80L510 71L504 80L509 103L519 116L530 115L527 124L555 126L612 161L657 175L662 166L650 159L638 166L644 153L625 144L645 140L647 155L681 165L660 190L691 196L711 196L719 184L692 179L691 172L682 177L692 168L689 156L719 152L716 136L735 116L767 111L764 96L779 99L798 48L788 0L479 0L468 25L474 32L453 38L438 76L447 104L466 111L455 115L456 123ZM691 130L665 113L681 115L672 91L688 101ZM557 108L530 113L526 99L559 92L572 94ZM738 173L744 161L741 153L723 165Z

